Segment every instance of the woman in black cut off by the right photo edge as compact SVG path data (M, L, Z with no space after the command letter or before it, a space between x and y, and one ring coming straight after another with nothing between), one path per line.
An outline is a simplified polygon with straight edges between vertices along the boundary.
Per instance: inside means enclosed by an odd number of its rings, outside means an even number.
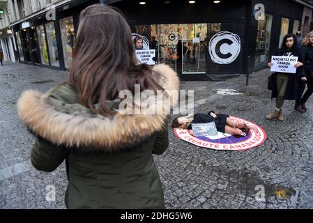
M305 38L303 38L302 56L305 77L301 78L301 82L299 84L295 109L299 112L306 112L307 107L305 106L305 102L307 102L313 93L313 31L307 33ZM307 91L305 91L303 95L305 84L307 84Z

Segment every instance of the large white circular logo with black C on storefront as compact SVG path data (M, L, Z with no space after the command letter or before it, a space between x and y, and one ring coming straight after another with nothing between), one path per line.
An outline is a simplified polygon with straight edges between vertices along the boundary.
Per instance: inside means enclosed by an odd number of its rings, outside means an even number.
M217 49L217 47L219 47ZM228 64L241 52L241 38L229 31L216 33L208 43L208 53L214 63Z

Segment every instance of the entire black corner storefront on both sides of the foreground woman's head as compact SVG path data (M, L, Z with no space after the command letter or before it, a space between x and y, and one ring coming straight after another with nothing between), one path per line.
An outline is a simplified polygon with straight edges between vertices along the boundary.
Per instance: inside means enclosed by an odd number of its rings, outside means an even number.
M22 22L15 24L20 62L66 70L79 13L98 2L70 1L56 7L55 21L47 21L43 13L27 20L27 28ZM284 34L301 29L305 8L289 0L145 2L106 1L124 13L133 33L146 38L148 47L156 50L158 63L167 63L182 79L266 68ZM264 14L256 13L257 4L264 6Z

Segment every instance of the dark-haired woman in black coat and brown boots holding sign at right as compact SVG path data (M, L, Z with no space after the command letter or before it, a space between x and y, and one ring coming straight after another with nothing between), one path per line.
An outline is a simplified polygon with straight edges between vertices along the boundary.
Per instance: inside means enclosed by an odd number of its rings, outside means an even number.
M296 100L298 91L299 77L304 77L302 55L300 49L296 47L296 36L289 33L284 36L282 47L275 56L298 56L298 62L294 64L296 73L275 72L275 78L272 86L271 98L276 98L276 106L272 113L266 116L266 119L272 120L277 118L279 121L284 121L282 115L282 105L284 100ZM268 63L268 66L273 66L274 63Z

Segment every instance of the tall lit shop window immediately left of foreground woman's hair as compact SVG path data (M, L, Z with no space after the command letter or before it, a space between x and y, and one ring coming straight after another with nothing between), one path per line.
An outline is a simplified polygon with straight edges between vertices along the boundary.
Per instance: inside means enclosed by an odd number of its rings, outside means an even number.
M66 68L69 68L70 63L72 63L72 49L74 46L74 36L75 36L72 16L61 19L60 26L61 26L61 39L64 55L64 64Z

